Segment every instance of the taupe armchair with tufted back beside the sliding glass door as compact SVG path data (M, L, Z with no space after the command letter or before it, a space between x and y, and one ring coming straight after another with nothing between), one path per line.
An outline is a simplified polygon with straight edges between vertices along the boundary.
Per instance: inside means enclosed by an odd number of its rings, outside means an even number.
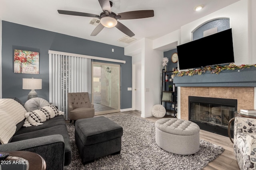
M78 119L94 117L94 105L88 92L68 93L68 118L70 123Z

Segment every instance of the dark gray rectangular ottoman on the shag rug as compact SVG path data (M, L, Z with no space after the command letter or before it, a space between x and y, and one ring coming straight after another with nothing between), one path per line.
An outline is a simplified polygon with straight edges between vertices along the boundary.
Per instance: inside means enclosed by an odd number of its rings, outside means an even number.
M83 164L109 154L119 154L123 128L107 117L78 119L75 140Z

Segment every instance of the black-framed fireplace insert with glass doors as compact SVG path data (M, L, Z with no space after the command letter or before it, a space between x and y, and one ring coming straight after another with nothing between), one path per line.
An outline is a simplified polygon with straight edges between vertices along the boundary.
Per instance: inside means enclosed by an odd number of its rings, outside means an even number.
M237 100L189 96L189 120L197 123L200 129L228 134L228 122L237 110ZM231 125L234 129L234 125Z

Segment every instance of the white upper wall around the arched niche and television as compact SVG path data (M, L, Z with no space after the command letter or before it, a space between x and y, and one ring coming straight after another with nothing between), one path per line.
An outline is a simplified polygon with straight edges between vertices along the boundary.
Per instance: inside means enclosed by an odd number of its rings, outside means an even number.
M153 41L154 49L162 49L174 42L178 45L190 42L195 29L212 20L230 18L233 33L235 64L256 63L256 0L240 0L212 14L183 25ZM204 10L204 9L203 9ZM175 47L176 48L176 47ZM174 48L170 48L174 49ZM169 49L169 50L170 50ZM167 50L166 50L167 51Z

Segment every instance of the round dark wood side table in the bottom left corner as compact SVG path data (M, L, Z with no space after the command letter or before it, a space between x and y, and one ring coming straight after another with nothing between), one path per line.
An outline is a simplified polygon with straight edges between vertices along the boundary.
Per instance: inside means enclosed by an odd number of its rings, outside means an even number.
M46 162L39 154L28 151L0 152L0 154L9 153L9 156L0 160L0 169L15 170L46 170Z

